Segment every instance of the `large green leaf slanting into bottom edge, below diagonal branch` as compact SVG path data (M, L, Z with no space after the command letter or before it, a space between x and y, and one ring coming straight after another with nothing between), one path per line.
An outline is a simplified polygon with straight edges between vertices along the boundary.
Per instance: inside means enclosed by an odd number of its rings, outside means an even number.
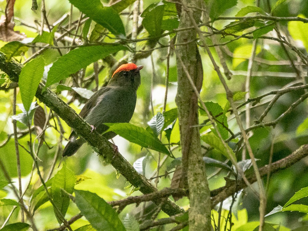
M80 212L97 231L125 231L118 214L103 198L83 190L75 190L75 195Z

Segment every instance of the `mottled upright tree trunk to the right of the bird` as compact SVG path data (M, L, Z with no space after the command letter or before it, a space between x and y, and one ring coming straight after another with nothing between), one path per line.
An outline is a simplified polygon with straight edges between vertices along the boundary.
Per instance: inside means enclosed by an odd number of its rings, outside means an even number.
M181 1L193 11L193 18L198 23L201 18L201 0ZM181 28L193 27L189 12L182 6L180 15ZM198 124L198 97L195 94L189 76L200 92L203 80L201 57L196 45L196 30L178 32L176 44L178 89L176 105L178 107L180 140L182 145L182 182L187 176L189 189L189 230L211 230L211 200L209 185L206 179L205 163L202 159L200 132ZM190 42L192 41L192 42ZM184 64L184 67L183 67ZM186 67L189 76L186 75ZM183 185L183 184L182 184Z

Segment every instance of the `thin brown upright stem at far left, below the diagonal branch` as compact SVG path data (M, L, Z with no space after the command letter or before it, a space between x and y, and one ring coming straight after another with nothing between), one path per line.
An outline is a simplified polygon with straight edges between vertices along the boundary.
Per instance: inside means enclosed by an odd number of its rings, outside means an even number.
M14 88L14 95L13 95L13 115L16 115L16 95L17 90L16 87ZM18 148L18 135L17 135L17 121L13 120L13 129L14 129L14 141L15 141L15 151L16 151L16 162L17 162L17 174L18 174L18 188L19 188L19 202L21 203L22 199L22 185L21 185L21 170L20 170L20 156L19 156L19 148ZM30 130L31 132L31 130ZM25 217L23 214L23 210L20 210L21 221L25 222Z

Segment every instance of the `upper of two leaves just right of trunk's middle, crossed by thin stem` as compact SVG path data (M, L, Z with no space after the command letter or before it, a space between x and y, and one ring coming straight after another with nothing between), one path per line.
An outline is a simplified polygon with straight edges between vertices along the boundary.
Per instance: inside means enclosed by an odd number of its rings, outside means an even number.
M204 103L206 108L209 110L210 114L216 117L217 115L224 112L221 106L218 103L213 102L205 102ZM206 115L205 111L201 108L200 109L201 115ZM206 115L207 116L207 115ZM219 115L215 118L218 122L216 123L217 129L221 134L221 137L226 140L228 139L229 132L226 128L228 128L227 116L225 114ZM226 128L225 128L226 127ZM216 131L213 131L216 134Z

